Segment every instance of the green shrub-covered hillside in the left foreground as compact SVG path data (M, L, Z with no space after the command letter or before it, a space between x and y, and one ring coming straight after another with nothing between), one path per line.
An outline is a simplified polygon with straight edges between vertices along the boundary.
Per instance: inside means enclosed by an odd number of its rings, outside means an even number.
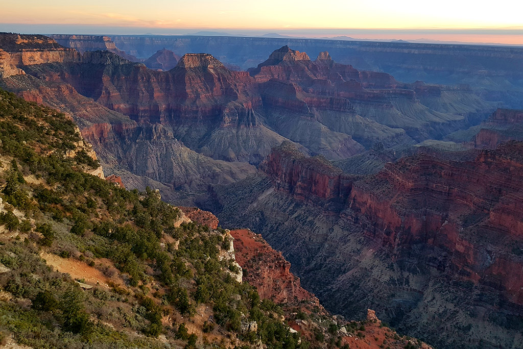
M155 191L89 175L98 162L63 114L0 90L0 140L3 343L308 345L237 281L228 231L183 223Z

